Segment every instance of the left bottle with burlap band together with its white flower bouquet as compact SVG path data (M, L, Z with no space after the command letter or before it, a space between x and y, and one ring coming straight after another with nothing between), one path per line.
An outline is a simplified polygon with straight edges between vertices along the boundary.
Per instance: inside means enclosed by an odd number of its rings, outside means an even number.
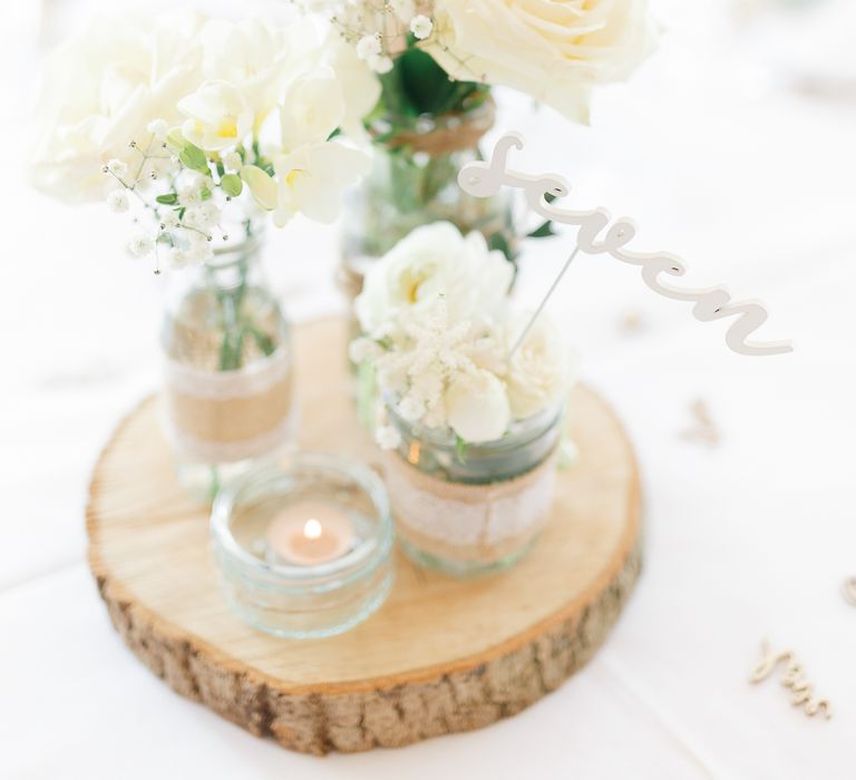
M96 23L47 62L35 183L106 199L132 257L185 270L163 330L165 419L208 494L288 440L288 329L257 256L268 216L331 222L368 170L344 134L373 100L353 59L343 75L305 20L171 13Z

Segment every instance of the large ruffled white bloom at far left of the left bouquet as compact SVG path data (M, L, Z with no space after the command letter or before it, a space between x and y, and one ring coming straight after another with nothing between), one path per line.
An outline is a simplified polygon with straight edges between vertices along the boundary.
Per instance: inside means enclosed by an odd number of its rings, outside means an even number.
M101 173L119 159L136 174L154 119L177 125L178 100L200 84L202 18L182 12L153 19L103 19L45 62L37 96L33 184L68 202L95 201L116 186Z

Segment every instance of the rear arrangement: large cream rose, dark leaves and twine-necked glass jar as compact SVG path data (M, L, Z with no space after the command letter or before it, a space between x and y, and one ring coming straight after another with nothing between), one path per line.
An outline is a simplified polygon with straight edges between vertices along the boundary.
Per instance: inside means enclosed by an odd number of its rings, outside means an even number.
M645 0L309 2L378 75L367 117L374 167L348 199L342 277L362 275L415 227L448 221L514 261L525 228L506 196L475 198L457 172L480 159L494 86L587 121L594 86L626 78L651 49ZM531 235L549 235L541 226Z

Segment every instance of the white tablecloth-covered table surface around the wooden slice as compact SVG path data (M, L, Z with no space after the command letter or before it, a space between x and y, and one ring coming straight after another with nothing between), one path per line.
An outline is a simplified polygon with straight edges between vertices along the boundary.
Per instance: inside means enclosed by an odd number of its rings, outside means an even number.
M45 35L99 4L55 0ZM763 338L792 338L797 351L736 355L726 323L698 323L636 270L577 261L552 313L641 460L635 594L588 666L514 719L325 759L172 693L109 625L86 565L87 479L117 418L156 387L162 291L123 259L124 225L105 208L27 188L37 3L4 6L0 777L856 777L856 608L839 594L856 574L856 97L795 88L856 74L847 4L758 11L738 29L721 0L661 0L659 53L601 94L591 128L504 96L502 128L532 142L523 167L564 172L577 203L636 217L636 245L684 256L691 285L765 300ZM522 301L571 242L531 248ZM298 222L269 254L293 319L341 310L335 231ZM622 331L626 312L639 333ZM698 398L718 447L681 438ZM777 680L748 684L765 636L798 653L831 721L791 708Z

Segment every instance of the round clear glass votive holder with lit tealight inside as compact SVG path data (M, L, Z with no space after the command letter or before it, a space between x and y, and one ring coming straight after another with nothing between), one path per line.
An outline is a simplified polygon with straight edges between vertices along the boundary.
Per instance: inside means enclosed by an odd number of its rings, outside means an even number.
M252 626L288 638L332 636L386 599L392 517L381 479L332 455L299 454L239 478L215 499L224 594Z

